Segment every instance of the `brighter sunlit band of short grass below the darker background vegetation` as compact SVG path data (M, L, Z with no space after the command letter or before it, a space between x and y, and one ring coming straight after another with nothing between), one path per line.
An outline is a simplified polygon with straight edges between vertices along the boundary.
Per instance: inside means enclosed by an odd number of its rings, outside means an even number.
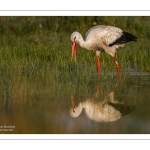
M8 74L13 77L17 69L24 70L25 73L20 75L31 78L34 74L36 78L38 76L40 78L42 75L44 76L44 73L64 79L72 74L85 79L97 76L95 53L79 48L77 62L71 61L70 35L65 33L60 35L53 37L53 35L47 34L45 37L41 37L38 42L30 41L28 36L2 36L4 42L1 42L0 66L4 71L1 71L1 75L7 76ZM60 38L63 38L63 41ZM125 71L149 71L149 56L149 41L140 38L137 43L127 43L117 52L117 60L121 69ZM40 71L40 67L43 69L42 71ZM115 71L115 64L111 56L105 52L102 53L101 76L110 72L115 73Z

